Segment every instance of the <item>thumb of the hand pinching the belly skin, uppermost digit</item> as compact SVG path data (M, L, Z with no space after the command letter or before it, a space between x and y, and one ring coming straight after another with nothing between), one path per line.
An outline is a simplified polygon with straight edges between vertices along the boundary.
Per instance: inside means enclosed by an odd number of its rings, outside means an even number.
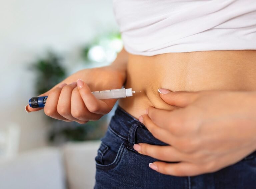
M158 92L162 100L164 100L167 104L177 107L186 107L187 105L193 103L199 96L198 92L172 92L167 89L158 89Z

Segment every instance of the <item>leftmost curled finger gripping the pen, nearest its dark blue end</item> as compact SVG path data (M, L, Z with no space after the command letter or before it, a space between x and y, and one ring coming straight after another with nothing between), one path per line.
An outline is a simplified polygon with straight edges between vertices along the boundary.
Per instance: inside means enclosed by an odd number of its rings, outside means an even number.
M67 84L65 84L67 85ZM61 116L58 111L57 111L57 105L58 105L58 101L59 101L59 96L61 93L62 88L65 86L60 85L60 87L55 88L54 90L52 90L47 98L47 101L45 103L44 106L44 112L46 115L48 115L49 117L52 117L54 119L59 119L59 120L63 120L63 121L67 121L67 122L71 122L70 120L66 119L65 117Z

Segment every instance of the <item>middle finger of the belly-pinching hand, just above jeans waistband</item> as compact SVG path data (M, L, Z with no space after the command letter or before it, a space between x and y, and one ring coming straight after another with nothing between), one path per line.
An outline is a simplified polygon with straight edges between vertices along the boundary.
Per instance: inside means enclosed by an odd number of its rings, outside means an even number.
M153 123L153 121L148 117L148 115L140 116L139 120L147 127L149 132L157 138L167 144L171 144L174 140L174 137L171 133L167 132L167 130L157 126Z

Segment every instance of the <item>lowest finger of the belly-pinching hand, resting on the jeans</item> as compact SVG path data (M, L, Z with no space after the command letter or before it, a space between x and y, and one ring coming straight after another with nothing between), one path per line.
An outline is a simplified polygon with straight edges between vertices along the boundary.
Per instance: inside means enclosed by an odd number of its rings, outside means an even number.
M203 166L188 162L165 163L156 161L149 167L159 173L173 176L196 176L205 173Z

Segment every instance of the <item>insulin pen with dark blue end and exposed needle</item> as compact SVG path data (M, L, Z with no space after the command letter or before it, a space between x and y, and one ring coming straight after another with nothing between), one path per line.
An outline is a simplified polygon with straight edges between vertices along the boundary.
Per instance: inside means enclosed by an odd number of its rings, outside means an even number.
M103 99L117 99L117 98L126 98L132 96L133 93L140 91L132 91L132 88L129 89L111 89L104 91L93 91L92 94L99 100ZM29 106L32 108L44 107L48 96L39 96L29 99Z

